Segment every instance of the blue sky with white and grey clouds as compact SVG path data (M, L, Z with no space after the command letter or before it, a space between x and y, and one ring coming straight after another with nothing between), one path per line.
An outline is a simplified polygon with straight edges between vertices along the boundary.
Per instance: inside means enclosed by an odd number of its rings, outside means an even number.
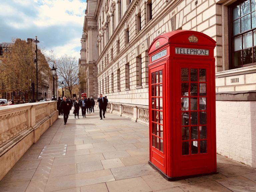
M0 0L0 43L40 41L38 48L80 58L86 0Z

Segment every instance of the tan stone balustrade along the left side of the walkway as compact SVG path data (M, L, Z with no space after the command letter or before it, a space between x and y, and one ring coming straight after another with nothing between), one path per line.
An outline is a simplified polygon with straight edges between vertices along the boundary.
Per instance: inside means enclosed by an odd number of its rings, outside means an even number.
M56 101L0 106L0 180L56 119Z

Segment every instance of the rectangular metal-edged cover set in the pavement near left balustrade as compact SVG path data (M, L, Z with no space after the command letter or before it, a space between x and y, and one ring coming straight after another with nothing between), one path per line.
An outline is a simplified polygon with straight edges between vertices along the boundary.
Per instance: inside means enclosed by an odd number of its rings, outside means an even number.
M60 145L45 145L37 159L61 157L67 152L67 144Z

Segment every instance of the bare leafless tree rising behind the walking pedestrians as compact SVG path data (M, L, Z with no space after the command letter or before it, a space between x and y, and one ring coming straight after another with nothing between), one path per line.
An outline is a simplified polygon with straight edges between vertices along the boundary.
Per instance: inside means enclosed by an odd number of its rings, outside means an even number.
M72 97L72 90L79 83L77 59L65 54L56 60L56 67L59 81L66 82L66 89Z

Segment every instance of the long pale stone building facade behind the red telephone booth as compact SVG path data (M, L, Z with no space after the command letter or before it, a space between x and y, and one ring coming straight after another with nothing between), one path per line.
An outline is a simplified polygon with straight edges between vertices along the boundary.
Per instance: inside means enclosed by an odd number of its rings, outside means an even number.
M148 54L155 37L195 30L216 41L217 152L256 167L255 0L88 0L84 91L148 123ZM83 63L82 63L83 61ZM90 81L90 82L89 82Z

